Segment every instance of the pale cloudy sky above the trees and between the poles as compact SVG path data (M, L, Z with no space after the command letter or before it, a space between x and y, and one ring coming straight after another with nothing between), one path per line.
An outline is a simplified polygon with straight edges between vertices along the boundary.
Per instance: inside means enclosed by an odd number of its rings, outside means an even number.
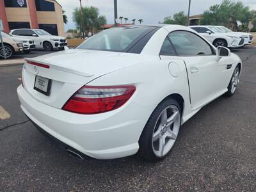
M79 0L57 0L63 10L66 11L68 24L65 30L75 28L72 22L72 12L79 6ZM132 19L143 19L144 24L156 24L163 21L164 17L172 16L174 13L188 12L189 0L117 0L118 17ZM241 0L245 5L256 10L256 0ZM221 3L221 0L191 0L191 15L197 15L207 10L212 4ZM99 8L100 15L105 15L108 23L114 22L113 0L82 0L83 6L95 6Z

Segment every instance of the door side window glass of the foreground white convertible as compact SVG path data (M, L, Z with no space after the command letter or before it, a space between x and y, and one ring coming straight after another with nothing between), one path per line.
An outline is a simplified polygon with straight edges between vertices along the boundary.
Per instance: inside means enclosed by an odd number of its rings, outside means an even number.
M200 36L189 31L174 31L169 35L172 44L180 56L198 56L215 54L212 47Z

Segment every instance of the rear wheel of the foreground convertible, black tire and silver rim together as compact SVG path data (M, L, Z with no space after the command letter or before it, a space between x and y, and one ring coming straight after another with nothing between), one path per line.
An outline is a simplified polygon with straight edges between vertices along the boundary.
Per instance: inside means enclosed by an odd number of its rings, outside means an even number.
M139 140L139 154L148 161L159 161L172 149L180 129L180 106L165 99L153 111Z

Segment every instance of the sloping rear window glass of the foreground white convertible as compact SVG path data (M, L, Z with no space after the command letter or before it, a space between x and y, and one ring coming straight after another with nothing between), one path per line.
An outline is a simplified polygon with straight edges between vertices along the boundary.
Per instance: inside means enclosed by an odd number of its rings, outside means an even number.
M77 49L125 52L136 40L152 29L154 27L149 26L127 26L106 29L85 40Z

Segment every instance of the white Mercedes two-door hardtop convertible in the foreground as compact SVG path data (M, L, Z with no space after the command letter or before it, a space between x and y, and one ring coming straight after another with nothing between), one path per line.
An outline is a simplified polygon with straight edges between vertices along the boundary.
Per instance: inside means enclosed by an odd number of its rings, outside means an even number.
M17 92L31 122L74 156L157 161L180 125L235 93L241 68L236 54L188 27L125 26L26 59Z

